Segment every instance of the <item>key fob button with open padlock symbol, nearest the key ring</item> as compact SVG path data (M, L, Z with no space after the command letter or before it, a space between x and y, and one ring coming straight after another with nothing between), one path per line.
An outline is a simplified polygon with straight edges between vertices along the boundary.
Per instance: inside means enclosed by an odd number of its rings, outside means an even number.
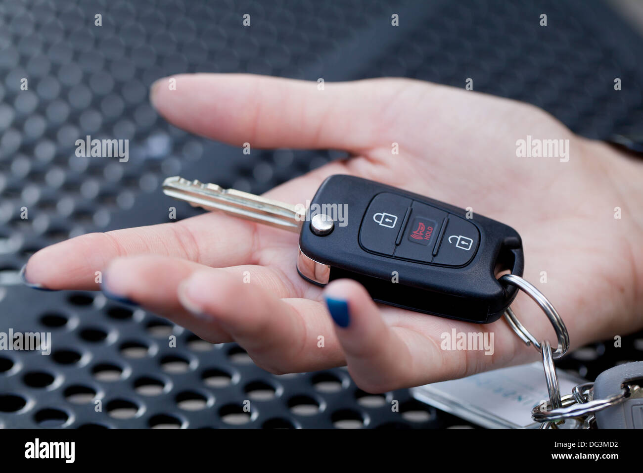
M444 236L440 242L433 264L464 266L478 250L480 232L473 223L464 218L449 215Z

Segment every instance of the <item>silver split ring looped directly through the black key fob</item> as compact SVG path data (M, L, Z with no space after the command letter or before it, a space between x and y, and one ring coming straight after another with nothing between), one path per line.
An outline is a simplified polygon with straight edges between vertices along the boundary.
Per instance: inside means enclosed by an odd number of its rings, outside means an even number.
M529 295L532 301L538 304L543 312L545 312L545 315L547 315L547 318L552 323L552 326L554 326L554 330L556 331L558 346L556 348L556 351L552 353L552 357L560 358L565 355L566 351L569 349L569 333L567 333L567 328L565 327L563 319L561 319L561 316L558 315L556 309L554 309L554 306L552 306L552 303L547 300L547 297L545 297L542 292L536 289L533 284L527 282L520 276L516 276L515 274L502 275L500 279L498 279L498 281L504 284L510 284L511 286L516 286L525 294ZM516 332L516 335L518 335L518 337L520 337L520 339L525 342L525 344L532 344L534 347L536 347L536 349L542 350L538 340L536 340L534 336L531 335L531 333L529 333L529 331L525 328L525 326L520 323L520 320L518 320L518 317L516 317L514 311L511 310L511 307L507 308L504 317L513 331Z

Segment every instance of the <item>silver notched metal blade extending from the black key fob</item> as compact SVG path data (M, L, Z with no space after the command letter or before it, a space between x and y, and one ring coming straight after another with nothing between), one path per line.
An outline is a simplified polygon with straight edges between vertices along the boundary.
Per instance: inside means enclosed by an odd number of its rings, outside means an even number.
M306 216L303 206L266 199L241 190L223 189L216 184L188 181L179 176L172 176L163 181L163 193L186 201L192 207L222 210L236 217L291 232L300 231Z

